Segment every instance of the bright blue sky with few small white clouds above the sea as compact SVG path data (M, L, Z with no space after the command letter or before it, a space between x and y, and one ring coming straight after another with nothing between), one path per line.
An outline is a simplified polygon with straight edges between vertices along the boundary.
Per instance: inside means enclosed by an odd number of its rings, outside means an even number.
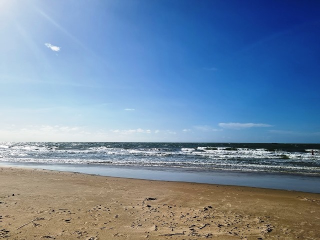
M0 0L0 141L320 143L318 0Z

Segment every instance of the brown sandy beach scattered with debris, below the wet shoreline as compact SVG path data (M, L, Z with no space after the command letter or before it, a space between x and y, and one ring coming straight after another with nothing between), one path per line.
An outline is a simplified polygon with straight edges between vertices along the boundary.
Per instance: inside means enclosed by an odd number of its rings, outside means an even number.
M0 239L320 239L320 194L0 167Z

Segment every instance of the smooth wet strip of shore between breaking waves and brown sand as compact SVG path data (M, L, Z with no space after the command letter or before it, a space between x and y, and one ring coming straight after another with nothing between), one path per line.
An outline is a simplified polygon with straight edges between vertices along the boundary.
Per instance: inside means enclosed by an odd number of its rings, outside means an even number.
M13 161L0 161L0 166L39 168L146 180L251 186L269 189L283 189L320 193L320 177L317 175L306 174L249 171L241 172L216 169L180 169L169 167L134 167L75 163L44 164L36 162Z

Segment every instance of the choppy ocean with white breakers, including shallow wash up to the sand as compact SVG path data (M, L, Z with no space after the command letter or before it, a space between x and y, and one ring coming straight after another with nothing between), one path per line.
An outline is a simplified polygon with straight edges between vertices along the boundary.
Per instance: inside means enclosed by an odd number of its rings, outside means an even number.
M320 192L320 144L0 142L0 164Z

